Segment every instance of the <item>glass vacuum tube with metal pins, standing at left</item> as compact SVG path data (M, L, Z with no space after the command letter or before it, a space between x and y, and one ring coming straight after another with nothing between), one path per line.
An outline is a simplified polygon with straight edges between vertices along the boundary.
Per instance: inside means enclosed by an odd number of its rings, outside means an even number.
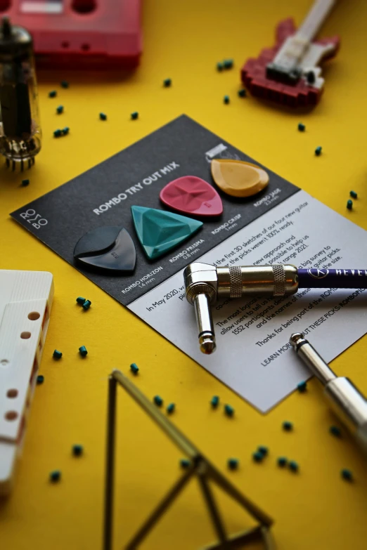
M32 37L22 27L0 22L0 153L7 166L34 164L41 149L37 80Z

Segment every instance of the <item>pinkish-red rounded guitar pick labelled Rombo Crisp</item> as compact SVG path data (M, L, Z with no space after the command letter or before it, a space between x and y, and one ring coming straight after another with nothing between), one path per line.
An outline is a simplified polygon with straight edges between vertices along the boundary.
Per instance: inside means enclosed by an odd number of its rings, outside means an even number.
M167 207L196 216L219 216L221 197L212 185L196 176L184 176L168 183L160 192Z

